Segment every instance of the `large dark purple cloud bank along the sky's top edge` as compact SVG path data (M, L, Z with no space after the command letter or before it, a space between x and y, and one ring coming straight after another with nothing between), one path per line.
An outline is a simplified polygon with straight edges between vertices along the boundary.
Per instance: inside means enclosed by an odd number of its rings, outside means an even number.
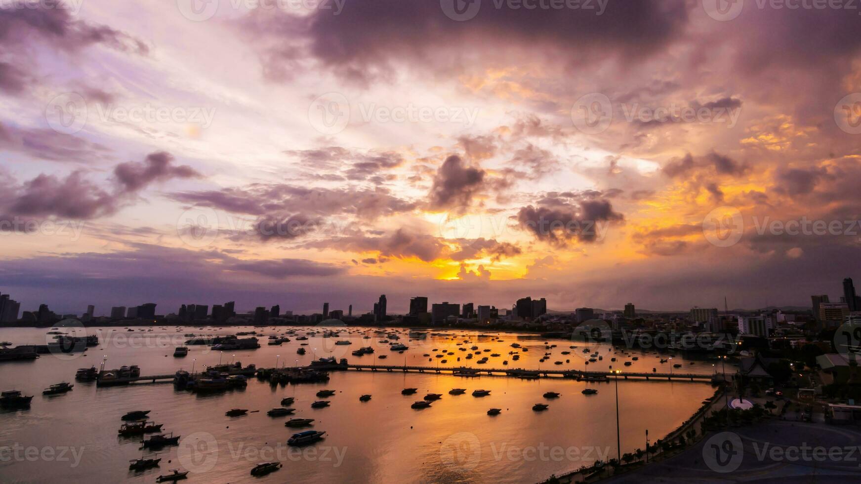
M468 57L463 46L471 52L554 53L563 62L583 61L594 48L604 57L637 61L683 33L687 9L681 0L610 2L601 15L587 9L497 9L487 3L468 22L455 22L439 2L362 0L337 16L325 9L309 16L257 9L242 27L258 41L269 39L265 72L283 73L281 65L300 62L304 48L304 55L342 77L367 83L375 75L388 76L399 62L455 65Z

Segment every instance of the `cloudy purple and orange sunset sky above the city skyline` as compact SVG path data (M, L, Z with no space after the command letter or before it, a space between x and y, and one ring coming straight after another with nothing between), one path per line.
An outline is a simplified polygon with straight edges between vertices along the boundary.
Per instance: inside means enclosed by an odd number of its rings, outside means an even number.
M861 10L0 3L0 292L807 306L861 278Z

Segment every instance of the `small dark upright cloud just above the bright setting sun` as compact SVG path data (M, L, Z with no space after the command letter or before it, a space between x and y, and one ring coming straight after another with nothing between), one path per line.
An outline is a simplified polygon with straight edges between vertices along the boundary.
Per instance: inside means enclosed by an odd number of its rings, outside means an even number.
M431 186L432 209L468 207L481 189L485 171L463 164L461 157L446 158Z

